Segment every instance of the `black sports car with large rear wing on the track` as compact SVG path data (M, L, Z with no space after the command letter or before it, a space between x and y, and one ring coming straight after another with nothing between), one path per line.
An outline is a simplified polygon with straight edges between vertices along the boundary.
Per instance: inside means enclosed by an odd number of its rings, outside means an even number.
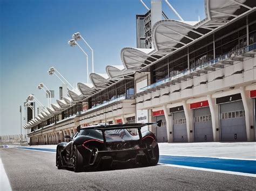
M159 149L157 138L150 131L141 132L146 125L157 123L135 123L77 127L77 133L69 143L57 145L56 166L71 167L75 172L86 168L107 168L118 164L157 165ZM128 129L138 129L132 135Z

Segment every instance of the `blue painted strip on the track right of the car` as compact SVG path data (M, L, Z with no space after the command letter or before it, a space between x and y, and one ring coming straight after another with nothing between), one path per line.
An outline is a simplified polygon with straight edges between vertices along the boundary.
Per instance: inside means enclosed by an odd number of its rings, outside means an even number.
M256 161L254 160L235 160L208 157L179 157L170 155L160 155L159 162L171 165L182 165L198 168L210 168L223 171L256 174Z

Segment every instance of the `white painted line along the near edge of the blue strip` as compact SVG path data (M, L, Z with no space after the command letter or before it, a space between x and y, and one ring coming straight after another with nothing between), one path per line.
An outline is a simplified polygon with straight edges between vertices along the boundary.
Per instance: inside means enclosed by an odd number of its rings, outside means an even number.
M194 170L199 170L199 171L209 171L209 172L217 172L217 173L225 173L225 174L234 174L234 175L241 175L241 176L256 177L256 174L250 174L250 173L241 173L241 172L233 172L233 171L222 171L222 170L211 169L211 168L198 168L198 167L181 166L181 165L169 165L169 164L163 164L163 163L158 163L158 164L164 165L164 166L177 167L177 168L194 169Z

